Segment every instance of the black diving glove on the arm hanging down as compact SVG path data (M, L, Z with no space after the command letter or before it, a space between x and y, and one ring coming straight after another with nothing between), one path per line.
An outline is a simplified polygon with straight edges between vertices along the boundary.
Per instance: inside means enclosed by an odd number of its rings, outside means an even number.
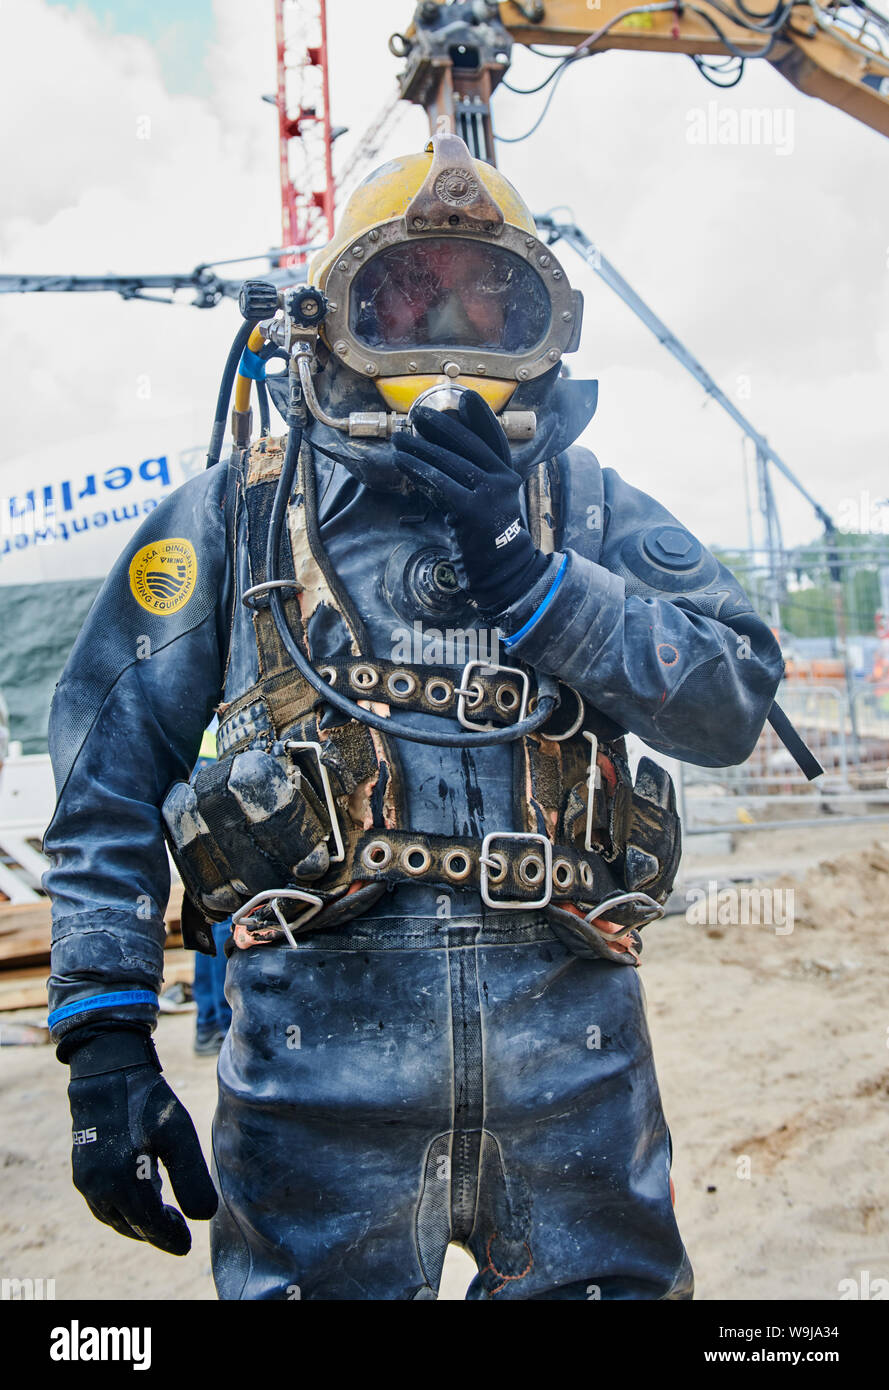
M161 1076L151 1040L117 1029L67 1049L74 1186L97 1220L131 1240L186 1255L192 1234L161 1200L163 1161L186 1216L210 1220L217 1193L192 1119Z

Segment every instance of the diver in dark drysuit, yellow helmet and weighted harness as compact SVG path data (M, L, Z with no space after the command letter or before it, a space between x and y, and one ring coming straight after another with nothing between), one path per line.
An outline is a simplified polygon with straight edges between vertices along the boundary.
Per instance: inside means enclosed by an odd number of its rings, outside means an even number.
M624 734L740 763L782 660L575 443L582 299L536 234L439 133L307 286L246 285L231 461L143 521L53 702L75 1186L174 1254L213 1218L222 1298L435 1298L450 1241L472 1300L692 1295L635 969L679 827ZM249 445L263 353L286 446ZM232 917L215 1183L151 1042L167 844L188 944Z

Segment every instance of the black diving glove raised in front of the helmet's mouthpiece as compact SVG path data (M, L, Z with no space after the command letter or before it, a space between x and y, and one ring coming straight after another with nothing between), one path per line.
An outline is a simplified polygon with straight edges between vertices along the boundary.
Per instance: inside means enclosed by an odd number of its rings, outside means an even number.
M419 435L394 436L394 466L444 514L471 600L501 613L540 578L547 559L522 520L522 480L500 421L475 391L463 393L456 420L426 406L411 418Z

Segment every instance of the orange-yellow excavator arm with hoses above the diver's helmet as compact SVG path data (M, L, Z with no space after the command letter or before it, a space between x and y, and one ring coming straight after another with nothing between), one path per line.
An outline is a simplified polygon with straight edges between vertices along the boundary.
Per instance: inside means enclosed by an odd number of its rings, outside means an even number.
M763 0L760 0L763 3ZM889 135L889 19L865 0L753 10L751 0L422 0L390 50L406 60L401 96L424 106L432 129L456 131L496 163L490 96L514 43L568 50L567 63L604 49L685 53L715 81L714 60L771 63L807 96Z

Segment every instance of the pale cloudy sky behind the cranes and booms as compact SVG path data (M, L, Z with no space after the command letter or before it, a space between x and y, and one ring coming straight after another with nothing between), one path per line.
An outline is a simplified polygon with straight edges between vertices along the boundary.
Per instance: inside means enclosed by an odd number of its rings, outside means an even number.
M329 0L332 114L351 142L383 104L413 0ZM4 0L1 271L183 271L276 245L272 0ZM518 53L515 85L549 65ZM772 146L695 143L710 103L775 113ZM539 97L501 90L501 135ZM703 117L699 115L703 113ZM150 120L150 138L144 118ZM379 158L421 147L404 108ZM765 63L718 93L688 58L571 68L540 131L500 146L535 211L575 220L829 509L889 493L889 143ZM701 539L747 543L738 428L570 252L586 296L575 375L600 379L585 442ZM104 430L208 431L233 304L4 297L3 459ZM13 350L14 346L14 350ZM146 392L144 382L150 384ZM185 441L183 441L185 442ZM817 532L776 480L785 535Z

